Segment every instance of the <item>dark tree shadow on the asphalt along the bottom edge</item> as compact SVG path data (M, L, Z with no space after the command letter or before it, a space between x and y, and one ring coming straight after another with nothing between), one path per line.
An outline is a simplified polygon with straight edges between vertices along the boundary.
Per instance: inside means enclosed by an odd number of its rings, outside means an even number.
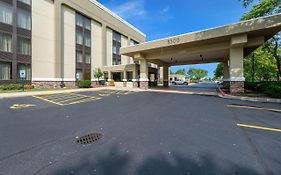
M179 154L157 154L133 165L133 156L112 148L107 154L96 158L82 159L73 167L64 166L51 175L259 175L255 170L226 162L221 167L210 156L201 156L198 161ZM227 168L226 168L227 167Z

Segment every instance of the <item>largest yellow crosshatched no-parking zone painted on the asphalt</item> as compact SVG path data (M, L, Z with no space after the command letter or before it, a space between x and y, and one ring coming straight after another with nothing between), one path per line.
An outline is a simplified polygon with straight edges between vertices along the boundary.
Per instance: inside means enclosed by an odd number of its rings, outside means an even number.
M50 94L50 95L39 95L33 96L43 101L53 103L59 106L73 105L79 103L86 103L101 99L100 97L87 96L75 93L62 93L62 94Z

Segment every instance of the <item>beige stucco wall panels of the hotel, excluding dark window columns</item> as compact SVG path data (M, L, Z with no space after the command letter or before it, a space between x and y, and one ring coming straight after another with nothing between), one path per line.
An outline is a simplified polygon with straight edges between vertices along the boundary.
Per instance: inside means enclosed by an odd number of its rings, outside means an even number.
M145 41L145 35L94 0L32 1L32 82L76 81L76 14L91 20L91 80L94 72L116 70L113 31L121 34L121 46ZM121 64L135 65L129 56ZM124 70L119 70L124 72ZM134 74L137 74L134 72Z

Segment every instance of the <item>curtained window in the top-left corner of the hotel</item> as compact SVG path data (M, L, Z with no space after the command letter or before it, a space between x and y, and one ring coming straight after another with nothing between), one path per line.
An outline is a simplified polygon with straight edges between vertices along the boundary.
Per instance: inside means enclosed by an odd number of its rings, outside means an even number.
M0 22L10 25L13 23L12 6L1 1L0 1Z

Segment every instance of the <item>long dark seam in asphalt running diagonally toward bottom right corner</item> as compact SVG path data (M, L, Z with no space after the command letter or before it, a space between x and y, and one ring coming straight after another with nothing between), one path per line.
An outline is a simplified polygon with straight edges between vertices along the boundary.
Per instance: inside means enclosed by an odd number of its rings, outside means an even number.
M238 119L235 111L229 109L229 111L232 113L233 119L236 123L241 123L240 120ZM273 172L271 171L271 169L268 167L268 165L265 163L263 157L261 156L260 152L258 151L257 147L255 146L255 144L253 143L251 137L249 136L249 134L246 132L244 127L239 127L240 131L242 132L242 135L245 137L246 139L246 143L248 144L248 146L250 147L250 149L253 151L254 155L256 156L257 162L262 166L262 168L265 171L265 175L273 175Z

